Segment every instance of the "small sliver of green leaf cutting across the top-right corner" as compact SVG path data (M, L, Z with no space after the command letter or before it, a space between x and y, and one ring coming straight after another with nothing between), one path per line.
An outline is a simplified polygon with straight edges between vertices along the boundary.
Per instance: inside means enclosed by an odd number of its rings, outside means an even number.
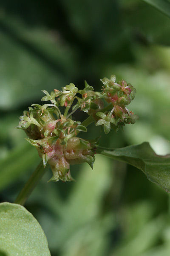
M158 9L163 14L170 17L170 2L167 0L143 0L144 2L150 4L151 6Z

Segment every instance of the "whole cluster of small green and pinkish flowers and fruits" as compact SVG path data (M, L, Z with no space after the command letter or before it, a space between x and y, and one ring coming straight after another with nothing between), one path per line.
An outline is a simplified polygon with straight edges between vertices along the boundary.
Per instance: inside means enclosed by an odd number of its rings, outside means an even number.
M138 116L128 111L126 106L134 99L136 90L124 80L117 83L115 80L115 76L102 79L104 86L100 93L86 81L83 90L78 90L72 83L51 94L42 90L45 96L41 100L49 103L32 104L29 111L20 116L18 128L26 131L27 140L37 148L44 167L47 163L51 166L52 181L73 180L70 173L72 164L87 162L93 167L98 139L90 141L77 137L79 132L87 132L90 122L102 125L106 134L111 128L117 131L126 123L135 123ZM63 113L61 107L64 108ZM89 115L82 123L72 119L78 108Z

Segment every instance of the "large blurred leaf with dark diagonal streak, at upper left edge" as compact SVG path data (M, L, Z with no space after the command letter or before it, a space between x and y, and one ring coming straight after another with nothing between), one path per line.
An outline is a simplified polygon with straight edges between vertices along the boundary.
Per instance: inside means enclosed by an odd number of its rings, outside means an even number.
M0 38L1 110L29 104L30 99L40 101L42 89L60 88L67 83L65 74L74 73L72 52L55 33L0 16Z

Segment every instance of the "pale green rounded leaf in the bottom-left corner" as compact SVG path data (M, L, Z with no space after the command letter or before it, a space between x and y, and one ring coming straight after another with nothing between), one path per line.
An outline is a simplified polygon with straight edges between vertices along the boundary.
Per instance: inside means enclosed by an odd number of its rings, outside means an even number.
M0 249L10 256L50 256L40 224L19 204L0 204Z

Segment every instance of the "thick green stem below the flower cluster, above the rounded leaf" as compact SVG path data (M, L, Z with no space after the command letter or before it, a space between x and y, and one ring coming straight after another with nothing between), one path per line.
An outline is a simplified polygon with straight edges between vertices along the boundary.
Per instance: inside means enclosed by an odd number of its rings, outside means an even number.
M24 205L26 200L28 199L31 192L34 190L34 188L37 186L37 183L42 178L42 176L45 174L48 168L44 169L42 161L37 166L31 177L26 182L26 185L23 187L23 189L20 191L19 195L17 196L17 199L14 201L15 204Z

